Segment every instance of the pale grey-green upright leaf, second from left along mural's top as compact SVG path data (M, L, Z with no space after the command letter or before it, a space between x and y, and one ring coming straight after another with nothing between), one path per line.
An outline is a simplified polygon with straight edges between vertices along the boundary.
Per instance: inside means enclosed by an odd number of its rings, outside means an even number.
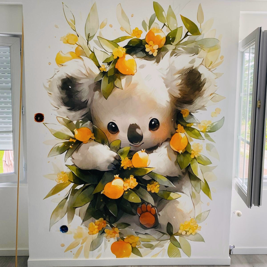
M95 2L91 7L87 20L85 22L85 37L88 40L88 42L93 39L98 28L99 28L99 19Z

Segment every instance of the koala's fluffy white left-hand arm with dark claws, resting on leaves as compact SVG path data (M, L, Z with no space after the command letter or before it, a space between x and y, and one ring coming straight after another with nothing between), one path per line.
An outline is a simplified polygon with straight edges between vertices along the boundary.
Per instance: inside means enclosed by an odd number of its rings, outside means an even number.
M72 162L83 170L108 171L114 168L119 156L110 150L107 145L89 141L81 144L72 154Z

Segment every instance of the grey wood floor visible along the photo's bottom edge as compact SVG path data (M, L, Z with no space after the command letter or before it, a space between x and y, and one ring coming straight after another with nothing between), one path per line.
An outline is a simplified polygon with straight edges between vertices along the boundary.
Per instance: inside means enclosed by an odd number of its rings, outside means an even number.
M267 255L230 255L231 267L266 267L267 266ZM28 257L18 257L18 267L27 267ZM1 267L14 267L15 257L0 257ZM165 266L165 265L164 265ZM159 266L159 267L164 267ZM167 265L166 265L167 266ZM222 267L222 265L175 265L179 267ZM116 266L112 266L116 267ZM140 266L138 266L140 267ZM142 266L146 267L146 266ZM154 266L157 267L157 266ZM169 265L167 267L174 267Z

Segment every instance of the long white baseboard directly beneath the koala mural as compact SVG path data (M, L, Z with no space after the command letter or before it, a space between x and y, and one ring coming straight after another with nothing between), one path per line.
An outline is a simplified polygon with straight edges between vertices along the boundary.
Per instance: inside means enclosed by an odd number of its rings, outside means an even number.
M228 258L127 258L127 259L56 259L29 258L28 267L127 266L127 265L230 265Z

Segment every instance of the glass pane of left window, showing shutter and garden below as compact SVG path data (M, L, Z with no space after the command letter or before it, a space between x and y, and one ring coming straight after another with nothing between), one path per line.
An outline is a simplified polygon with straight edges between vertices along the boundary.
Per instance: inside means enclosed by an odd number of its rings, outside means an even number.
M0 174L14 172L10 48L0 47Z

